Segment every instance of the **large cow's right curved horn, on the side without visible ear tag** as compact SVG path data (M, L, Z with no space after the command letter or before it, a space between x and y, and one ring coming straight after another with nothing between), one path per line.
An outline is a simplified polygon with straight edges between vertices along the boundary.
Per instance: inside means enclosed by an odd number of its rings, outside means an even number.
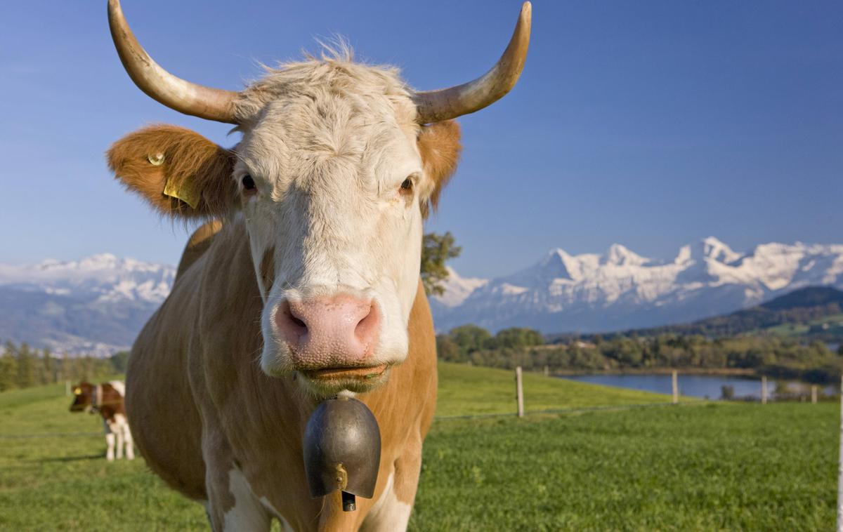
M489 72L473 82L413 95L418 109L418 122L430 124L451 120L463 114L474 113L503 98L518 81L524 70L524 60L529 47L530 19L533 8L529 2L521 6L518 24L507 49Z

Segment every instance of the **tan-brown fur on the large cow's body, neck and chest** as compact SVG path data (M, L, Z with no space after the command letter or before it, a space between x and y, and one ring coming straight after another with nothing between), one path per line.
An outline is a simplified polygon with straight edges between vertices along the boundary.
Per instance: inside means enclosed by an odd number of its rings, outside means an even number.
M234 221L180 275L132 348L126 405L149 466L188 497L207 500L213 490L222 506L212 511L216 527L234 504L225 493L234 464L255 496L266 497L294 529L357 529L391 473L396 496L411 503L437 385L433 325L421 283L405 363L391 370L379 390L358 396L378 419L383 447L375 497L358 498L352 513L341 511L338 493L309 496L301 439L315 402L297 382L270 378L255 363L261 307L245 228ZM206 468L213 479L208 487Z

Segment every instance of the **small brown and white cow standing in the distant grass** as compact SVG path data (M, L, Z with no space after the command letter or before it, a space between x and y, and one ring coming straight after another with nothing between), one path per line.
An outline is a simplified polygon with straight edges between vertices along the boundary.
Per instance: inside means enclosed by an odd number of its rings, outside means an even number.
M70 405L70 411L99 413L103 418L105 459L109 461L115 459L115 443L118 460L123 457L124 447L126 460L135 459L132 432L126 421L126 407L123 405L125 396L126 386L121 380L111 380L98 385L80 382L77 386L73 386L73 403Z

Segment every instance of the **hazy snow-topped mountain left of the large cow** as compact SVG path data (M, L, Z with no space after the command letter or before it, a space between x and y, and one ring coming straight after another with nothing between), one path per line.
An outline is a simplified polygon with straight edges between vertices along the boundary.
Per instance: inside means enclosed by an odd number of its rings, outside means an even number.
M0 338L56 353L128 348L172 288L175 269L104 253L0 264Z

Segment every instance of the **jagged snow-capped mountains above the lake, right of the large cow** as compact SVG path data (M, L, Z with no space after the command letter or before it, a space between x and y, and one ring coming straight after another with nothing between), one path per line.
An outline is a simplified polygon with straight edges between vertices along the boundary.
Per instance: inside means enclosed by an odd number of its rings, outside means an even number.
M843 288L843 245L770 243L736 253L708 237L681 247L672 261L620 244L603 254L555 249L515 274L469 280L455 275L433 298L438 331L464 323L613 331L736 311L808 285Z

